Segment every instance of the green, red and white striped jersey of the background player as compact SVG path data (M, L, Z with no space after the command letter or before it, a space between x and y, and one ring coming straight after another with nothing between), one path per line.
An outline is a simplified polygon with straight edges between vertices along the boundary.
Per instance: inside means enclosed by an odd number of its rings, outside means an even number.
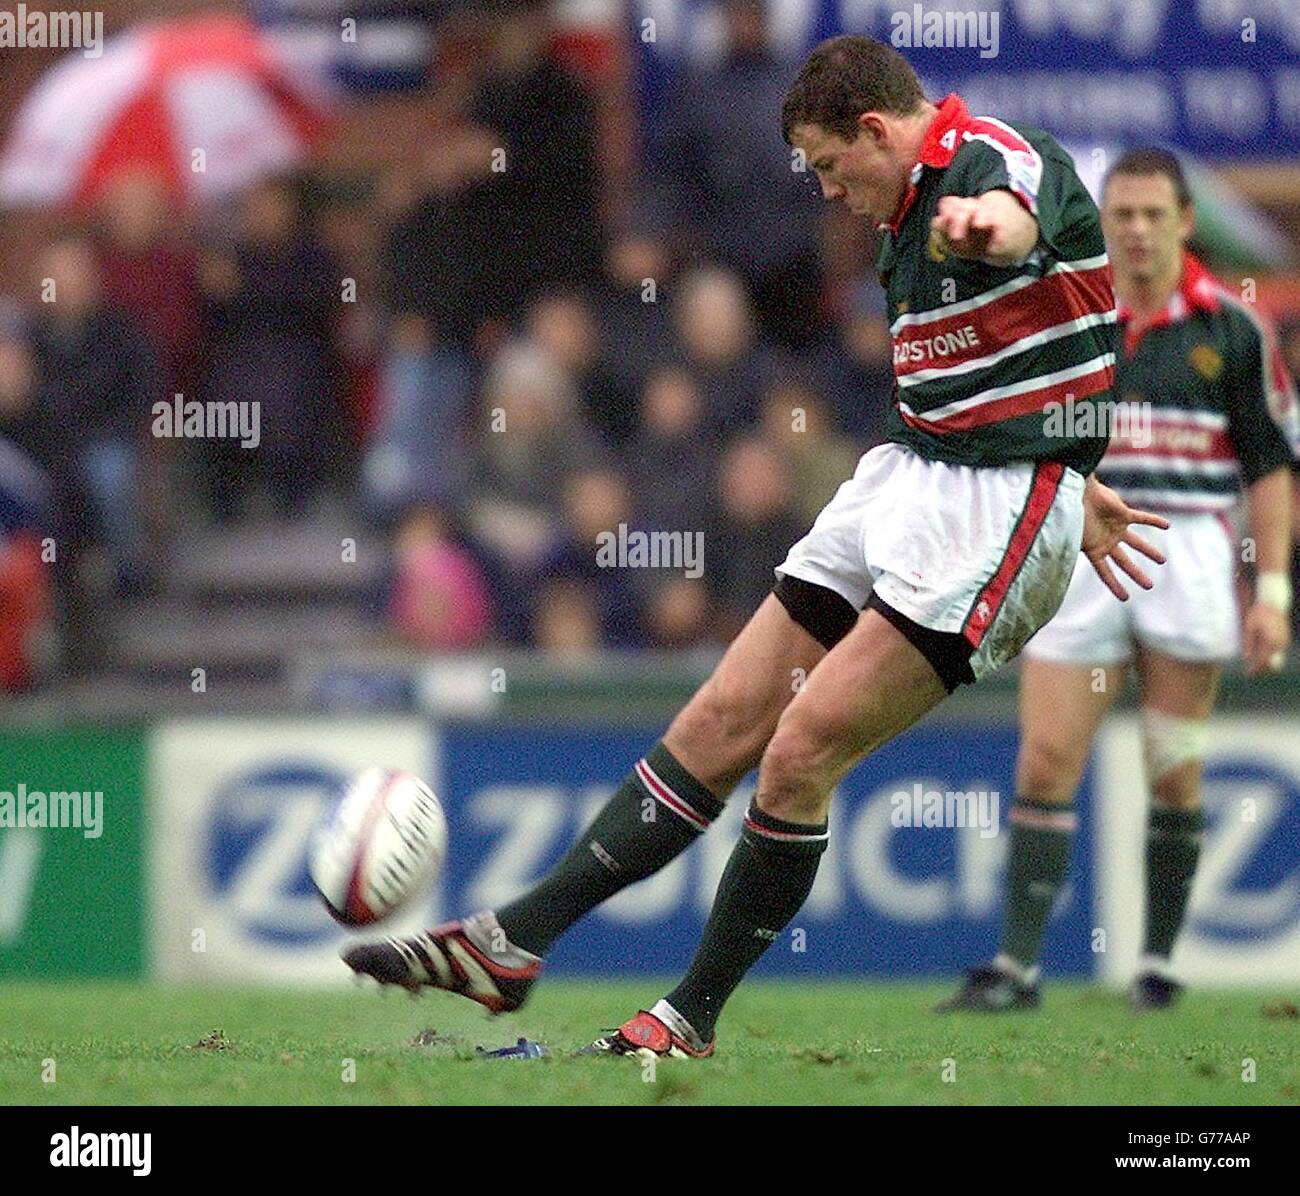
M1154 320L1131 328L1121 307L1119 321L1115 394L1126 407L1097 477L1127 502L1223 511L1300 452L1300 406L1273 330L1191 254Z

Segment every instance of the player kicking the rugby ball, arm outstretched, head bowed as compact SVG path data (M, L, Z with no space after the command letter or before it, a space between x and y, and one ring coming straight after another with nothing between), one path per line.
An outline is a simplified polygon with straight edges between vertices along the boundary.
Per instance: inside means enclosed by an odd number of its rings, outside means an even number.
M885 230L892 442L862 458L714 675L547 876L494 913L354 948L355 971L517 1009L551 942L675 859L758 764L686 976L595 1044L710 1054L724 1001L812 887L836 781L1014 656L1060 606L1080 545L1118 595L1113 567L1149 586L1124 546L1162 556L1128 524L1165 521L1089 477L1104 437L1053 430L1046 415L1106 399L1114 372L1110 270L1070 157L956 95L928 101L901 55L858 36L812 52L783 126L824 198Z

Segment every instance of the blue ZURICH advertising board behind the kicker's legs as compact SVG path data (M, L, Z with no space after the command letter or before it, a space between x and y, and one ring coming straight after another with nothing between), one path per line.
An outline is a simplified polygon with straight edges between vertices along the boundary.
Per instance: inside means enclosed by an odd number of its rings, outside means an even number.
M654 742L658 729L450 725L434 780L451 823L448 913L525 890ZM919 728L842 784L831 845L802 913L757 974L949 975L992 956L1001 919L1017 732L1005 724ZM1080 790L1072 884L1052 920L1045 967L1088 975L1092 928L1091 770ZM748 792L671 867L571 930L549 972L666 974L684 968L740 832ZM673 816L663 809L659 816ZM965 826L933 826L933 822Z

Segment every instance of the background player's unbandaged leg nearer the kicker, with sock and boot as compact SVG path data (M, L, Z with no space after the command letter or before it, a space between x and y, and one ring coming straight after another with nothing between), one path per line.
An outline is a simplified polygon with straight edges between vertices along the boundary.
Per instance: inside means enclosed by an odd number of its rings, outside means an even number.
M1037 1006L1039 952L1070 861L1075 790L1097 728L1123 688L1124 671L1123 663L1024 660L1002 937L992 963L974 968L940 1013Z

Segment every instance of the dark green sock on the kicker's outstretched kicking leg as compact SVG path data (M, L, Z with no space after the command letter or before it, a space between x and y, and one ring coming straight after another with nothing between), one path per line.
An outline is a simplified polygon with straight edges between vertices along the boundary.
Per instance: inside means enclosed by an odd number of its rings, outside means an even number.
M506 937L542 956L588 910L671 863L708 829L723 802L655 744L569 853L497 910Z

